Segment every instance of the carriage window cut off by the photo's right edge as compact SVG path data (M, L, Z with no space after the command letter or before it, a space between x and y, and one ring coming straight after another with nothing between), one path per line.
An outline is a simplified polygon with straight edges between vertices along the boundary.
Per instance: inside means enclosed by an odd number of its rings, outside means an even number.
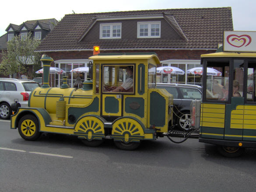
M256 61L248 62L248 69L247 69L247 101L256 101Z

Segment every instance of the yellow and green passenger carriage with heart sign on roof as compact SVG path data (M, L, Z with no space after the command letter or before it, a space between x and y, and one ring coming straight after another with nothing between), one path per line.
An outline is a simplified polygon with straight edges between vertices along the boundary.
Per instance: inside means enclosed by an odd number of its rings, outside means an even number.
M199 141L236 157L256 148L256 31L225 31L223 52L201 55L203 100Z

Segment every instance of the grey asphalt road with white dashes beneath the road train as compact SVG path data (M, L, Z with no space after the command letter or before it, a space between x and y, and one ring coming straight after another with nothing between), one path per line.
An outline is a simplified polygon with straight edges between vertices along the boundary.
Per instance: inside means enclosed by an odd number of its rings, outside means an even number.
M57 134L25 141L0 121L0 192L254 192L255 170L252 149L227 158L196 139L158 138L134 151Z

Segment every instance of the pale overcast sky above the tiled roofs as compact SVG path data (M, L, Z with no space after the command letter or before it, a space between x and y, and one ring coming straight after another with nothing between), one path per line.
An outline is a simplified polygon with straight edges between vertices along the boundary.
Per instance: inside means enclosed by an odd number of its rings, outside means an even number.
M98 13L128 10L231 7L235 31L256 31L256 0L12 0L2 1L0 36L9 24L28 20L56 18L65 14Z

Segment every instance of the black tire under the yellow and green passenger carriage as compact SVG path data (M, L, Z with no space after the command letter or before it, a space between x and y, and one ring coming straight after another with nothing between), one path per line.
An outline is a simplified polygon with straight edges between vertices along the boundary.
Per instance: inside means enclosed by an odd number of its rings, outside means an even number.
M218 146L217 149L225 157L239 157L245 151L245 147Z

